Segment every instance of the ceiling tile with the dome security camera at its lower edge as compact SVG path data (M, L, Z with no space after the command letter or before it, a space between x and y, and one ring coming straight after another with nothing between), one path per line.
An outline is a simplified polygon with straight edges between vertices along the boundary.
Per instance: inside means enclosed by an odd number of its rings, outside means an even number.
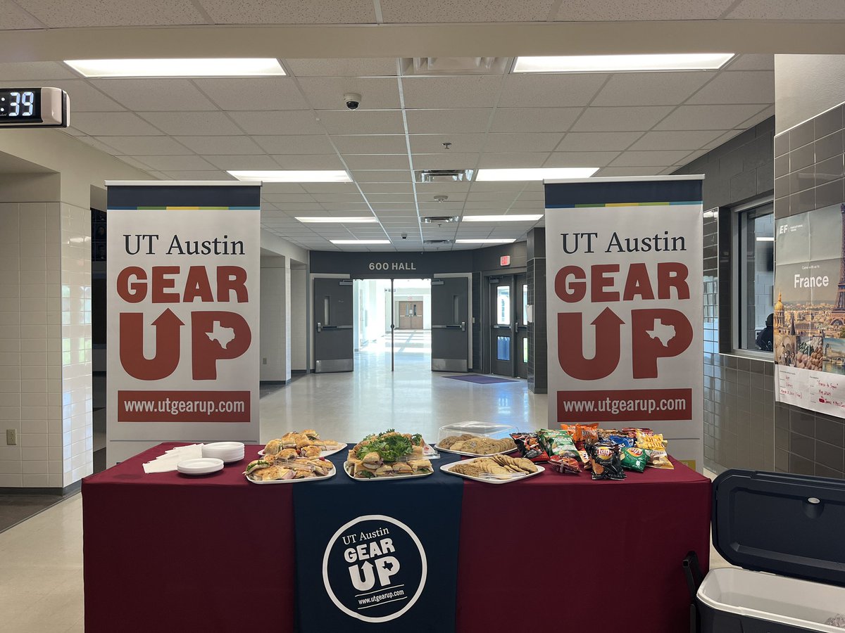
M303 77L299 79L305 99L314 110L343 110L343 95L361 95L357 111L395 109L399 103L399 82L396 78Z

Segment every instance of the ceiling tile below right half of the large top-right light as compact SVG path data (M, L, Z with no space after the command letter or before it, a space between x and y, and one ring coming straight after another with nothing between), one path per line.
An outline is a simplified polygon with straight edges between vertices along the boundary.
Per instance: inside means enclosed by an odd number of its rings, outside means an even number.
M592 106L677 106L716 73L616 73Z

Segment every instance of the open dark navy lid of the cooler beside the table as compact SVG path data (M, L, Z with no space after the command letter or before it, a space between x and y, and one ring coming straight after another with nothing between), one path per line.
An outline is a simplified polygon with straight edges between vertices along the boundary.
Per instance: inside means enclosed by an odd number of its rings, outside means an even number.
M728 470L713 482L712 528L732 565L845 586L845 480Z

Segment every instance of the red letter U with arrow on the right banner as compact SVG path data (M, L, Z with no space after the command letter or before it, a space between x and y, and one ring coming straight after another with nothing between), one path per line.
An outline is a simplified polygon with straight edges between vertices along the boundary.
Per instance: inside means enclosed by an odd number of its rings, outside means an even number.
M561 369L573 378L595 381L610 376L619 365L621 334L624 321L616 312L605 308L593 320L596 326L596 354L584 358L584 331L581 312L558 313L558 362Z

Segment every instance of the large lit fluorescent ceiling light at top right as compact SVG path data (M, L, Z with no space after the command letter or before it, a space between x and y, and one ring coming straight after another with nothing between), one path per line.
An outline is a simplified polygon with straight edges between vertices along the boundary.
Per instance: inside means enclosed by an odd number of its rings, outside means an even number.
M571 55L517 57L514 73L633 73L654 70L717 70L733 53Z

